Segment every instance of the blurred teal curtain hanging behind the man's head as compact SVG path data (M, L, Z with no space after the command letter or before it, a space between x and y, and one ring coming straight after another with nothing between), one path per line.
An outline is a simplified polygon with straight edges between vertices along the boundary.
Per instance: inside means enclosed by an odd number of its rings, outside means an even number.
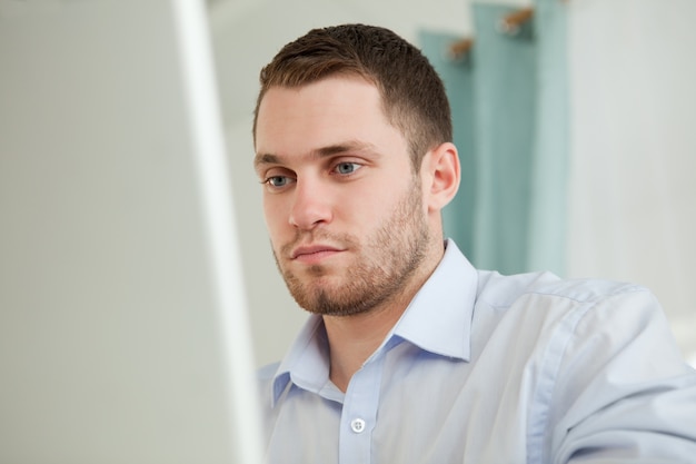
M567 185L566 19L561 2L537 0L515 34L500 32L514 7L473 3L474 46L424 30L420 46L453 107L463 180L444 210L445 233L479 268L505 274L565 270Z

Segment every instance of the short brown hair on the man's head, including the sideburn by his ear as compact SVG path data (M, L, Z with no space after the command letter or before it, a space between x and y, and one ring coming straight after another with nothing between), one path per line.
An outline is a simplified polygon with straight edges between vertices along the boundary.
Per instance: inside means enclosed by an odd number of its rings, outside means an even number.
M276 55L260 73L255 140L268 89L301 87L337 75L359 76L377 86L387 120L409 144L416 171L428 150L451 141L445 86L428 59L395 32L365 24L312 29Z

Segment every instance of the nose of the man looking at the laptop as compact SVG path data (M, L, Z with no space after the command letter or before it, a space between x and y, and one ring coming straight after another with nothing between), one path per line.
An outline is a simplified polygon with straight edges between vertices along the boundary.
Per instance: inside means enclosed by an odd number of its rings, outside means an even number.
M332 219L331 199L328 188L318 180L298 179L290 209L290 225L300 230L310 230Z

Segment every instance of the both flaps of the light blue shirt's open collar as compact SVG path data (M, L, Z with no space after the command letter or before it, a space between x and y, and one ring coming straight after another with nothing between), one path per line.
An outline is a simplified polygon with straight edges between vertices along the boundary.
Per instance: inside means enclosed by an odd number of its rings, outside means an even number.
M399 338L440 356L468 361L477 272L451 239L445 246L441 261L416 294L385 344ZM324 319L311 315L274 376L271 405L290 381L307 391L324 392L330 396L330 388L327 392L328 352Z

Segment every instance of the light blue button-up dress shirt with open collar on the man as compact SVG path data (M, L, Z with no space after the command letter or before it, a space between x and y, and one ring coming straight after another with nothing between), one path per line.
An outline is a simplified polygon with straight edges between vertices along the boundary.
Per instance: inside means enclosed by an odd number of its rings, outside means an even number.
M451 240L345 394L319 316L259 376L270 463L696 463L696 372L649 292Z

